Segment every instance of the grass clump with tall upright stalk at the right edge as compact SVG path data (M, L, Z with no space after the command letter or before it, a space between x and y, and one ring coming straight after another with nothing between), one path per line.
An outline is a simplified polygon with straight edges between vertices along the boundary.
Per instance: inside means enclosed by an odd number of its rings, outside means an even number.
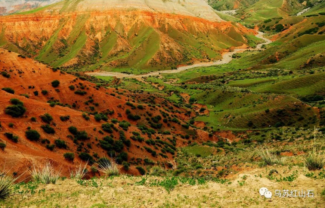
M314 129L314 141L312 141L313 150L309 154L302 154L303 162L305 167L308 170L320 170L325 166L325 152L321 153L322 147L320 147L319 151L316 149L316 127Z

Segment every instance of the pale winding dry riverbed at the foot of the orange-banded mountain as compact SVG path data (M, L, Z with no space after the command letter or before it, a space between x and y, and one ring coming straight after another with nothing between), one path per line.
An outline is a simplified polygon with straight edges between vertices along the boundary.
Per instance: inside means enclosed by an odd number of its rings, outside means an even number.
M129 78L141 78L141 77L149 77L149 76L157 76L159 74L171 74L171 73L179 73L188 69L196 68L196 67L209 67L209 66L214 66L214 65L220 65L220 64L227 64L232 60L232 55L235 53L243 52L246 50L260 50L262 45L267 45L271 43L272 41L263 37L263 32L257 31L258 34L255 35L258 38L261 38L265 40L265 43L257 44L256 48L244 48L244 49L234 49L232 52L227 52L222 55L221 60L213 61L213 62L204 62L204 63L196 63L188 66L181 66L178 67L176 70L164 70L164 71L155 71L155 72L149 72L146 74L125 74L125 73L120 73L120 72L106 72L106 71L101 71L101 72L88 72L86 74L91 75L91 76L115 76L117 78L123 78L123 77L129 77Z

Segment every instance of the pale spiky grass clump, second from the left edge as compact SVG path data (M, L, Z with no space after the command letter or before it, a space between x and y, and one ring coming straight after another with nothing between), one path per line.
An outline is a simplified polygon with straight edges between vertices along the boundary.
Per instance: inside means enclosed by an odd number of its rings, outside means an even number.
M60 177L60 172L61 170L55 170L50 161L46 161L43 168L33 163L32 170L29 171L34 181L40 181L45 184L55 184Z

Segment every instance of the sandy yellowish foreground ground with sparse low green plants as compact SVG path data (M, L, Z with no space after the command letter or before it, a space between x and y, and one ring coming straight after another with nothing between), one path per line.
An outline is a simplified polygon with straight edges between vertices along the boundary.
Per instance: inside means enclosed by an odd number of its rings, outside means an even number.
M272 174L270 180L267 175L271 169L278 174ZM325 192L325 179L306 177L306 173L297 166L255 168L222 183L190 185L179 181L169 193L157 185L166 177L121 175L82 182L65 179L57 184L38 184L33 194L14 194L1 201L0 207L324 207L321 193ZM19 191L24 187L28 186L21 185ZM268 188L273 196L261 196L261 187ZM297 190L298 195L302 189L305 197L290 197L291 190ZM281 197L274 196L275 190L281 191ZM313 197L307 197L307 190L313 190Z

